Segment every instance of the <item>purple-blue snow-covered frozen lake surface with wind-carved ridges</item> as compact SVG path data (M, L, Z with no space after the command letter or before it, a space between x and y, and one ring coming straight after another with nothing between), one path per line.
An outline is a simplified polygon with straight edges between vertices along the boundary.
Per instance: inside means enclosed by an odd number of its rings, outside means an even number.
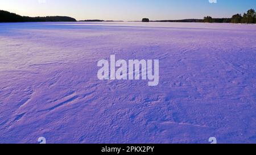
M159 59L160 81L97 61ZM0 143L256 143L256 25L1 23Z

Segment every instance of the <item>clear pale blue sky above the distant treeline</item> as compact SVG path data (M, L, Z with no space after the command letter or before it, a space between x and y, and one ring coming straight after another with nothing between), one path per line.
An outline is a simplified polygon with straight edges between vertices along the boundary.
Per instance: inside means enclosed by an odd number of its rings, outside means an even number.
M214 1L214 0L210 0ZM1 0L0 10L26 16L66 15L77 20L151 20L230 17L256 9L256 0Z

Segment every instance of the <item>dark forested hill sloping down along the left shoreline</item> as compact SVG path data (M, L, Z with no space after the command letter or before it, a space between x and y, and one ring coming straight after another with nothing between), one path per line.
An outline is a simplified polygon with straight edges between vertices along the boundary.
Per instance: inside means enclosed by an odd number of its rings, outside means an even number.
M0 10L0 22L76 22L76 19L69 16L20 16L8 11Z

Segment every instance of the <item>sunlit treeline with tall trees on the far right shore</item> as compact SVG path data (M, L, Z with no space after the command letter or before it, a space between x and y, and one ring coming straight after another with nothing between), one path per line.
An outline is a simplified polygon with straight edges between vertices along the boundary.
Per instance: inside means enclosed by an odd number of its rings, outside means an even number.
M203 22L205 23L256 23L256 12L254 9L248 10L243 15L236 14L232 18L212 18L205 16Z

